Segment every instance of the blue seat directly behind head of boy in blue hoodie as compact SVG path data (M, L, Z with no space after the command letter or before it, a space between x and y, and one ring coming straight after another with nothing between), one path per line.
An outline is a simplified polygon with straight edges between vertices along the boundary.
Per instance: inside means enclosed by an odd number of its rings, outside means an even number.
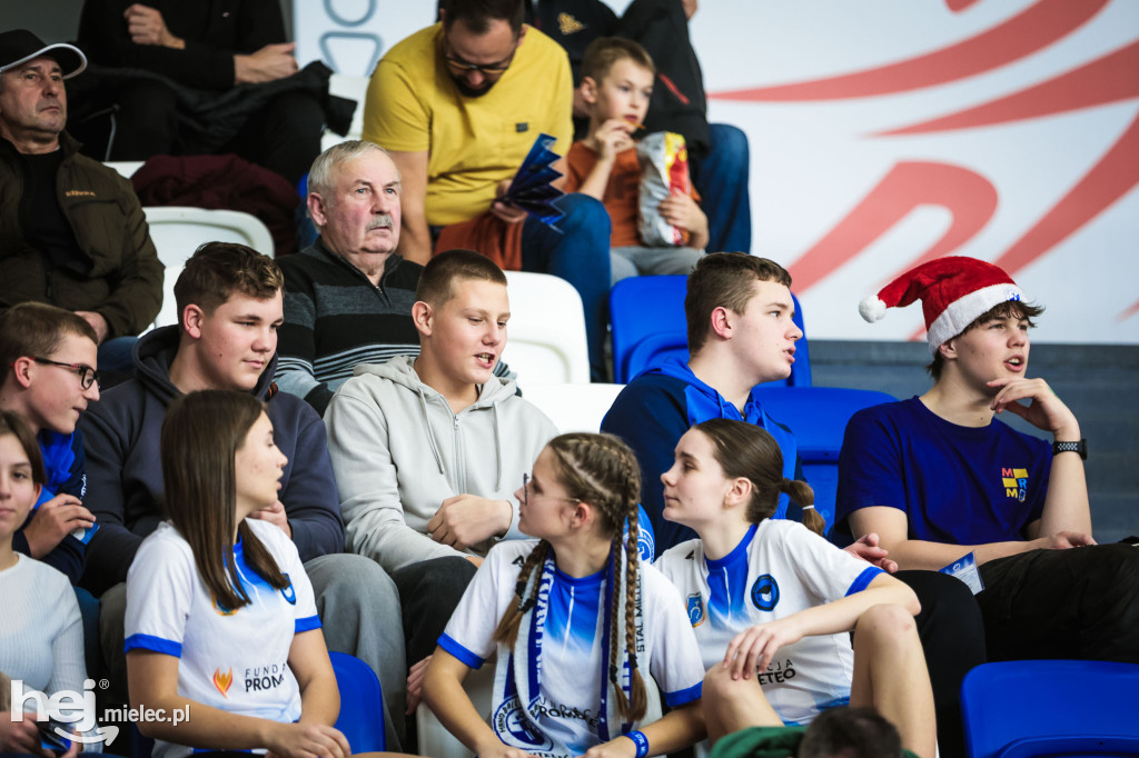
M687 277L631 277L609 293L613 324L613 371L617 384L628 384L645 369L667 357L688 360L688 324L685 319ZM792 296L794 298L794 295ZM795 298L795 323L803 329L803 313ZM790 377L773 386L810 387L811 356L806 330L795 343Z

